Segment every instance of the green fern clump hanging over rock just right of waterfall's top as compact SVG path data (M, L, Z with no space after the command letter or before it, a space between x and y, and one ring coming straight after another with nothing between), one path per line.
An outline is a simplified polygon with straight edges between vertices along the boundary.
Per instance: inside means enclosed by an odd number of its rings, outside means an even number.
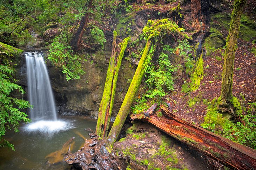
M62 70L67 80L80 79L79 74L85 74L81 65L82 58L73 54L71 46L64 45L58 38L54 38L52 44L50 44L48 59L53 65Z

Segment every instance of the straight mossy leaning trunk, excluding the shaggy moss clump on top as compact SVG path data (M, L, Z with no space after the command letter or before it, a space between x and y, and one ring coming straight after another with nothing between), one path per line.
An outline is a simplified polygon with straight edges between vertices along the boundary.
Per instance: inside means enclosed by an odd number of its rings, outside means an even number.
M130 84L130 87L129 87L127 93L126 93L126 96L124 97L121 108L120 108L119 112L117 113L116 119L114 121L114 124L113 124L110 132L109 132L108 138L110 136L116 136L116 138L117 138L121 131L121 128L123 127L124 121L125 121L126 117L128 116L128 113L133 104L134 98L139 90L142 77L144 76L144 73L145 73L144 65L147 64L146 59L147 59L147 57L151 57L148 55L150 47L151 47L151 40L149 39L149 40L147 40L147 43L144 48L143 54L141 56L139 65L135 71L133 80Z

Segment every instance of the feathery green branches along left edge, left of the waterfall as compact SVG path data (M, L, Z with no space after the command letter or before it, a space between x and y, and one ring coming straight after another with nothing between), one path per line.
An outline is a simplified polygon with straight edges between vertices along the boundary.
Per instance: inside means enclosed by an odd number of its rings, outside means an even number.
M14 146L3 136L7 128L19 132L19 122L27 123L30 121L27 114L19 109L29 108L31 105L23 99L11 96L13 91L18 91L21 94L24 94L25 91L21 86L13 83L15 79L13 79L12 74L15 70L12 65L7 64L11 61L8 61L5 57L2 61L2 64L0 64L0 147L11 147L14 150Z

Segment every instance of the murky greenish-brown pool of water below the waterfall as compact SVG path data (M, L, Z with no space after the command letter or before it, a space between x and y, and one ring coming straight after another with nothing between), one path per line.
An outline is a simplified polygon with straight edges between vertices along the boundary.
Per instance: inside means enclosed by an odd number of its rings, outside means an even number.
M20 126L19 133L7 131L4 138L14 145L15 151L0 148L0 170L70 169L67 163L62 162L63 155L67 153L69 145L71 153L83 146L90 133L84 128L95 131L97 120L80 116L65 116L60 120L67 123L67 128L55 133L28 131L25 124ZM72 137L75 139L70 140Z

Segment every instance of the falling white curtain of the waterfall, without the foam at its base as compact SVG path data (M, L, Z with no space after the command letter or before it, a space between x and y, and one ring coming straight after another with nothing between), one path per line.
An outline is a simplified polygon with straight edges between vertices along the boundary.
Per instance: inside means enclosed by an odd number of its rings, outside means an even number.
M50 79L43 60L38 52L26 52L28 97L33 105L31 120L57 120L55 102Z

